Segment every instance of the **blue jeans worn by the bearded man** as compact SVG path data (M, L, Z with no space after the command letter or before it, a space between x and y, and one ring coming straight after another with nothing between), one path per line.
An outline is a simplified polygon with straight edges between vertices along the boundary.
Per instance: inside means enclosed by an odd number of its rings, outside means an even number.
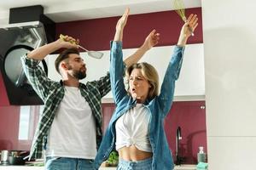
M47 156L45 170L94 170L93 160Z

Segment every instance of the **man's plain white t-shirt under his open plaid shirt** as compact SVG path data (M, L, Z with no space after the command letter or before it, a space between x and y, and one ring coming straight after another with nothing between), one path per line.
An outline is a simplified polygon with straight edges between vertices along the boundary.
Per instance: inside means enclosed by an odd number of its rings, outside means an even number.
M45 155L95 159L96 122L79 88L65 86L49 129Z

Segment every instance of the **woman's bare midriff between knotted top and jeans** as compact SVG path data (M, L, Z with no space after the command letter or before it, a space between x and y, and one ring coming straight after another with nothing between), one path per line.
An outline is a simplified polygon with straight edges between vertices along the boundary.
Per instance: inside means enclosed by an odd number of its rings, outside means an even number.
M125 161L141 161L152 157L152 152L138 150L135 145L119 149L119 158Z

